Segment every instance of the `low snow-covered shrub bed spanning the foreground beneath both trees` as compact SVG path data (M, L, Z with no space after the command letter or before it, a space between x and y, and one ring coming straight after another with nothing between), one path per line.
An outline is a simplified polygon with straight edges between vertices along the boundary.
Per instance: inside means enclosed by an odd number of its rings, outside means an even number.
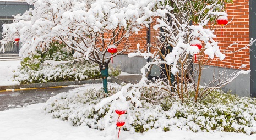
M119 88L119 87L118 87ZM112 92L117 91L117 87ZM102 90L73 91L51 97L45 107L46 113L73 123L74 126L89 126L102 130L105 122L116 122L116 114L110 120L104 117L110 104L95 111L94 107L104 97ZM171 99L171 100L170 100ZM173 128L198 131L243 132L248 135L256 132L256 101L250 97L237 97L220 91L213 92L201 103L181 103L179 99L162 99L161 104L153 105L146 101L143 107L129 104L128 113L134 120L126 122L124 130L144 132L152 128L170 131ZM128 114L124 115L128 119Z

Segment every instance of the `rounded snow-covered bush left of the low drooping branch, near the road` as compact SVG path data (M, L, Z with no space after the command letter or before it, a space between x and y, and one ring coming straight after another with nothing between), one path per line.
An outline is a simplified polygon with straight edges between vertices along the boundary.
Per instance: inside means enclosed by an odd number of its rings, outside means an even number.
M47 101L45 111L52 117L72 122L74 126L83 125L102 129L98 122L105 116L110 105L106 104L98 111L95 111L94 106L102 99L101 95L104 91L101 89L96 92L94 89L89 89L70 93L60 93L58 96L51 97Z

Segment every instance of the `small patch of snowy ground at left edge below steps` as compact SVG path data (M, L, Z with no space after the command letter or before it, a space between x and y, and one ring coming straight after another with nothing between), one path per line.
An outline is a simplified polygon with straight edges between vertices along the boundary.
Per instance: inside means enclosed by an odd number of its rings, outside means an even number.
M0 61L0 86L18 85L13 81L13 70L17 70L20 61Z

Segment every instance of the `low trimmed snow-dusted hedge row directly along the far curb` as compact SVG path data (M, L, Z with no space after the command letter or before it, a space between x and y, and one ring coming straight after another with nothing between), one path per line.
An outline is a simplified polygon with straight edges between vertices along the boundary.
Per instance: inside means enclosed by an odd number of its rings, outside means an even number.
M14 71L14 80L24 83L77 81L100 78L99 66L91 63L45 65L39 69L21 69Z

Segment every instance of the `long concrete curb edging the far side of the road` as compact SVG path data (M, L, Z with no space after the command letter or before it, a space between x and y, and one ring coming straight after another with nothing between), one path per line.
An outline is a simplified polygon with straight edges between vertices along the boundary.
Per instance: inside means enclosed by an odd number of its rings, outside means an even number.
M108 82L112 82L112 80L110 78L108 78L107 80L108 80ZM49 83L31 83L31 84L21 84L21 85L9 85L9 86L0 86L0 90L83 85L83 84L89 84L89 83L102 83L102 79L85 80L85 81L67 81L67 82L49 82Z

